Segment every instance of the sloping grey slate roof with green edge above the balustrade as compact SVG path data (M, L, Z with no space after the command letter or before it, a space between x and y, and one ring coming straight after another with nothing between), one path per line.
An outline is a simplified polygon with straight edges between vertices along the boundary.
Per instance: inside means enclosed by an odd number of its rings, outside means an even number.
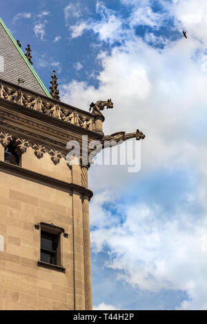
M18 85L19 78L25 81L21 84L23 88L51 98L45 85L0 17L0 79Z

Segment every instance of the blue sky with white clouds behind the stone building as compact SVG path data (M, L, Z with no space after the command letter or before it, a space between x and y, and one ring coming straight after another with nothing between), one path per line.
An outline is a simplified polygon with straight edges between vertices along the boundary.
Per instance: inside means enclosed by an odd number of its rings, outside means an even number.
M90 166L94 309L207 310L206 0L0 3L61 101L111 98L103 132L146 134L139 172Z

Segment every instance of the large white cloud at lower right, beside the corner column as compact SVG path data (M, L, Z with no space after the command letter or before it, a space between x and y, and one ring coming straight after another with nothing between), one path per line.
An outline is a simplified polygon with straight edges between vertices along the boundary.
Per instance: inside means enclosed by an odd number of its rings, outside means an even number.
M123 205L119 206L123 212ZM127 207L126 221L92 232L97 252L110 248L108 267L124 271L118 279L142 290L162 288L184 290L191 298L179 309L206 309L206 225L190 222L179 210L173 220L164 221L159 206ZM184 224L181 226L181 224ZM98 223L96 224L97 226Z

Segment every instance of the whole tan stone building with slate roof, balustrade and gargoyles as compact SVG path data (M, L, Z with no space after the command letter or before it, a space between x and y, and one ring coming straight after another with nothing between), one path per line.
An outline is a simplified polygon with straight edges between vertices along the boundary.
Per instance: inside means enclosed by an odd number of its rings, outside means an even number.
M111 99L91 103L92 113L51 99L17 46L0 18L0 310L92 310L90 165L68 165L67 143L79 143L81 163L90 146L91 163L92 141L101 150L144 134L104 136ZM55 264L41 259L46 228L59 233Z

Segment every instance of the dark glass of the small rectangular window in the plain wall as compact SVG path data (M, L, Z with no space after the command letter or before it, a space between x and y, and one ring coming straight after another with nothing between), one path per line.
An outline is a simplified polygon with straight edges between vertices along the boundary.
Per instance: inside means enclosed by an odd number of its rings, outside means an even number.
M57 265L58 236L41 231L41 261Z

